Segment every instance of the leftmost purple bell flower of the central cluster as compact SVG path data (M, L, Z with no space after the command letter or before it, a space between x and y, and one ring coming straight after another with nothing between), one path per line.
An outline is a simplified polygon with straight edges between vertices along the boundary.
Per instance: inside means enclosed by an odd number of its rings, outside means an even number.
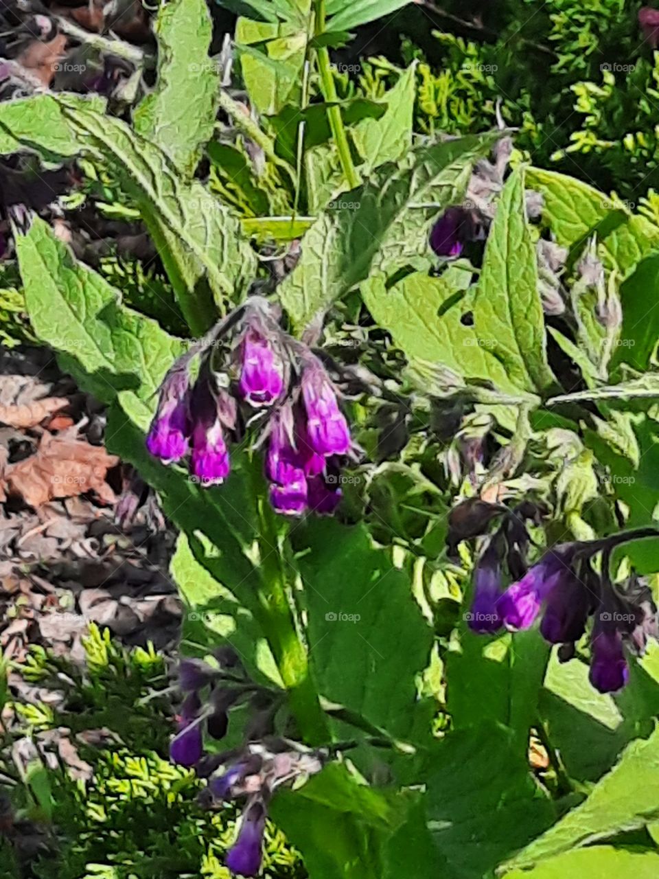
M150 454L164 464L180 461L188 450L190 436L190 377L186 369L174 368L160 389L156 417L147 436Z

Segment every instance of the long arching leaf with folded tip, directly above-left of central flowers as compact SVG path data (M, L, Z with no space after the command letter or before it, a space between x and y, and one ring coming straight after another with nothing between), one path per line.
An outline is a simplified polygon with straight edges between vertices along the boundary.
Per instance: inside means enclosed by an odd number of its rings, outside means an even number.
M206 279L223 306L235 302L236 287L256 271L238 221L199 182L183 184L163 151L121 120L64 106L67 119L86 134L87 149L98 150L137 201L185 318L201 335L215 316Z

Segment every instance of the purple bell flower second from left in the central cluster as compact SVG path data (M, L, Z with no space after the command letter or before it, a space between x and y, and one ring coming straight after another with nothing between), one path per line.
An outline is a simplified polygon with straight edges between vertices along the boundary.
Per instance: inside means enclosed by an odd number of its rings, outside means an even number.
M206 374L200 374L192 390L192 455L190 470L202 485L222 483L230 470L224 439L221 401Z

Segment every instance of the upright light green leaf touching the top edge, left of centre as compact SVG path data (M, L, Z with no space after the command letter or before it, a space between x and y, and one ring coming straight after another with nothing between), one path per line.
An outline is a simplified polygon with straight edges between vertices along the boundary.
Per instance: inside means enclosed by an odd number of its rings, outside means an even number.
M161 5L156 89L134 113L135 131L161 147L185 177L192 177L214 131L220 76L208 57L211 31L205 0Z

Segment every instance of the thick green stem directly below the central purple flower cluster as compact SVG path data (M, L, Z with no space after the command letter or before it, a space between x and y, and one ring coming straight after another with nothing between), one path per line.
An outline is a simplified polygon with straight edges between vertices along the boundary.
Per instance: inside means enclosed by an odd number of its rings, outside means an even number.
M291 711L305 744L322 745L331 737L327 716L318 701L318 694L310 677L307 650L295 625L286 588L286 570L272 512L265 498L261 497L259 505L263 537L263 557L259 567L259 623L270 644L282 683L288 692Z

